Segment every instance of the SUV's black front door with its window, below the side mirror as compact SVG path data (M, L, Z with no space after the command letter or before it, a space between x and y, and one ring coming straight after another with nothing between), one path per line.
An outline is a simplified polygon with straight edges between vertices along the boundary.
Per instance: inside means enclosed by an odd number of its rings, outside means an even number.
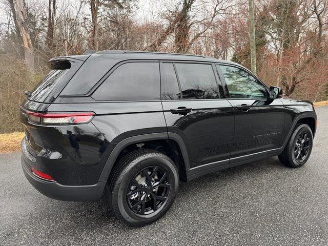
M227 64L216 66L228 87L235 114L231 162L275 152L284 124L281 101L270 99L268 88L247 70Z

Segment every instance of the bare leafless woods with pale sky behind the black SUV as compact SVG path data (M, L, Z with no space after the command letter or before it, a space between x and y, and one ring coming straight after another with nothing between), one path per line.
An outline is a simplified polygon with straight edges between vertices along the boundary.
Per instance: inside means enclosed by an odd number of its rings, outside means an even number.
M0 0L0 133L22 130L46 61L86 50L177 52L251 68L249 2ZM257 75L284 95L328 98L328 0L255 0Z

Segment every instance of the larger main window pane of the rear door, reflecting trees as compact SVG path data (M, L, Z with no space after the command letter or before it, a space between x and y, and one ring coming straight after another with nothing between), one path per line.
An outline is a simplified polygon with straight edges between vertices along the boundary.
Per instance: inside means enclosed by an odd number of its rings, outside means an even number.
M220 98L212 65L175 64L183 99Z

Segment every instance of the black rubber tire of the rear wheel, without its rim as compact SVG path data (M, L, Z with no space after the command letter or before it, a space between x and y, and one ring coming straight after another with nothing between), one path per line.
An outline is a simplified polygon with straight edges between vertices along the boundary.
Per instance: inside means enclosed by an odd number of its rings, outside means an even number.
M178 191L179 177L172 160L170 160L169 157L165 158L160 153L152 153L151 155L147 155L146 157L140 159L137 157L131 161L131 163L133 164L128 165L117 178L118 181L116 181L112 193L112 204L113 208L118 209L120 215L126 221L136 226L142 226L157 220L171 207ZM127 201L127 189L132 178L141 172L141 170L150 166L158 166L163 171L167 172L167 175L171 180L170 192L165 203L163 203L156 212L149 215L138 215L135 214L129 207Z

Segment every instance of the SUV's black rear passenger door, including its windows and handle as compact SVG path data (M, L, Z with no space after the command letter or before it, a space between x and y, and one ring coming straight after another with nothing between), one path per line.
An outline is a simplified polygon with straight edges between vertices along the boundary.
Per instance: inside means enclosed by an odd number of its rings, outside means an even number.
M214 64L161 61L161 100L168 132L185 142L190 167L229 163L234 115Z

